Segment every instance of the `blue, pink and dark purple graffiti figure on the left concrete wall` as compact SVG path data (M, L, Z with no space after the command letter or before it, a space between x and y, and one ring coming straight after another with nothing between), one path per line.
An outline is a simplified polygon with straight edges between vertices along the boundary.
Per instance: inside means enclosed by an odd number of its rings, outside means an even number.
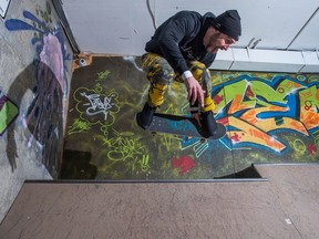
M29 141L35 139L41 144L43 164L52 175L56 175L62 155L63 121L66 121L64 101L69 92L69 70L65 63L71 61L72 56L68 53L62 28L54 23L51 15L52 7L49 1L45 9L37 7L34 14L27 10L22 13L24 20L8 19L4 25L9 31L34 33L30 39L35 50L35 84L31 89L34 100L24 115L25 125L33 136ZM18 87L23 87L23 84ZM12 158L9 160L13 162Z

